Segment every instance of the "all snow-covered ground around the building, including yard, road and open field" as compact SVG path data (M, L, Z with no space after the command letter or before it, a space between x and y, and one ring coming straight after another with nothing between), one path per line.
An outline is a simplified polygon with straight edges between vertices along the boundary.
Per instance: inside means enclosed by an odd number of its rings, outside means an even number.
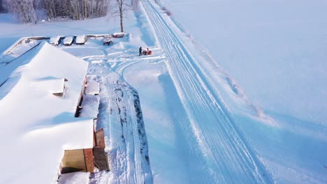
M91 183L326 183L326 3L163 5L173 20L141 1L124 26L129 36L111 46L59 46L88 61L101 84L97 128L105 128L111 171ZM0 52L23 36L118 25L106 17L22 25L0 15ZM140 46L153 54L138 56Z

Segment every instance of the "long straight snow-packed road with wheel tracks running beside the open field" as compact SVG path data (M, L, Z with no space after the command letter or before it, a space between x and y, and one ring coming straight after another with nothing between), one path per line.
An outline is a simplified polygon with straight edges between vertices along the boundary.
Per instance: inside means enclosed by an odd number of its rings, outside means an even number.
M194 139L190 151L197 155L201 183L273 183L270 174L247 146L224 102L196 65L196 59L171 29L153 1L142 1L159 43L166 51L166 65L189 117ZM174 122L176 126L182 122ZM206 178L206 181L203 180Z

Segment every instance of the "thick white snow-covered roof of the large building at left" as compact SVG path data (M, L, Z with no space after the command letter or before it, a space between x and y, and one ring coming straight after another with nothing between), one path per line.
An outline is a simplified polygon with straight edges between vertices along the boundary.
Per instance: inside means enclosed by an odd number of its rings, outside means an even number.
M87 66L43 42L0 67L0 172L5 183L54 183L65 149L93 147L93 118L75 118ZM66 95L53 95L63 82Z

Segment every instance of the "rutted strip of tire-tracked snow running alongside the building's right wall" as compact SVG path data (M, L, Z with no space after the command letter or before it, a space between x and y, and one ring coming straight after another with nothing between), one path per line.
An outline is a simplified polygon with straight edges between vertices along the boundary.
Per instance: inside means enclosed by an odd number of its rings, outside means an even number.
M92 61L102 61L92 63ZM89 75L101 86L101 106L97 129L104 128L110 174L94 174L92 183L152 183L147 137L138 93L110 68L106 58L88 60ZM128 62L127 62L128 63Z

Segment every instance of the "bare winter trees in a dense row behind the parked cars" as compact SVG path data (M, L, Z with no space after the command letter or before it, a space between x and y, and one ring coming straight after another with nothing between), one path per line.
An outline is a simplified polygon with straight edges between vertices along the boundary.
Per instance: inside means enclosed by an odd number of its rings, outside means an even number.
M1 11L13 13L23 23L40 19L85 20L107 15L110 0L0 0Z

